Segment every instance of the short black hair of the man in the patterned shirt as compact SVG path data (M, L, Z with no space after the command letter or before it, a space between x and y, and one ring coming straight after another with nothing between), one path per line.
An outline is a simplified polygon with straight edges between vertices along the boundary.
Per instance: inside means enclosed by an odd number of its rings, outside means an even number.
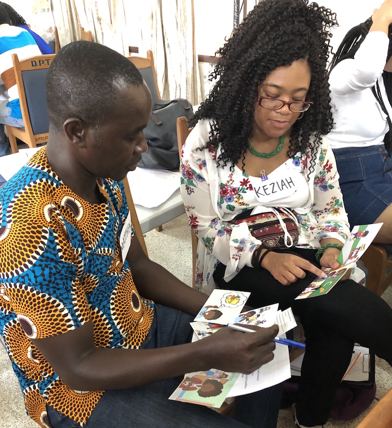
M51 125L79 118L93 126L115 116L116 93L140 86L139 70L120 53L98 43L77 41L64 46L50 64L46 95Z

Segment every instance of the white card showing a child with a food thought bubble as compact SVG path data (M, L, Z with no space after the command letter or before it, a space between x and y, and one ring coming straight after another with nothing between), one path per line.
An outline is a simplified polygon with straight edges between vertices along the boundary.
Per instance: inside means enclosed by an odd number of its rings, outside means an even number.
M216 288L196 315L195 321L217 324L234 323L250 293Z

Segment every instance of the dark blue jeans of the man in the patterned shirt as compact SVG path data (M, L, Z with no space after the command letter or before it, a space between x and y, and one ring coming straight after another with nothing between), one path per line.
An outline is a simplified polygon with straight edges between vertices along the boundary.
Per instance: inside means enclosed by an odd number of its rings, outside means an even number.
M144 349L173 346L191 341L189 323L194 317L176 309L156 305ZM275 428L283 384L237 397L233 418L205 406L168 400L181 379L167 379L137 388L106 391L93 410L85 428ZM79 427L47 405L52 428Z

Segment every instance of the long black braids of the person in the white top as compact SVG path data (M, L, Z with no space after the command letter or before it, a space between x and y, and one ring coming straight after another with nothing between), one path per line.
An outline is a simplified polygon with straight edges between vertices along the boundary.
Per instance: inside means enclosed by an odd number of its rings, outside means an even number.
M365 40L365 37L368 35L369 29L371 25L373 24L373 21L371 18L368 18L364 23L356 25L355 27L351 28L347 34L344 36L342 43L340 44L338 50L336 51L335 55L332 58L331 64L329 66L328 75L333 70L334 67L336 67L337 64L339 64L341 61L347 58L354 58L355 53L361 46L362 42ZM388 47L388 54L387 54L387 62L392 57L392 25L389 26L388 29L388 37L390 39L390 44ZM388 95L388 100L390 104L392 105L392 73L388 71L384 71L383 74L383 80L385 89ZM378 84L378 81L376 84L371 88L371 91L380 104L380 107L382 111L387 115L387 121L389 125L389 131L385 134L384 137L384 145L385 148L388 151L388 155L391 156L392 152L392 120L389 116L388 110L385 106L385 103L381 96L380 87Z

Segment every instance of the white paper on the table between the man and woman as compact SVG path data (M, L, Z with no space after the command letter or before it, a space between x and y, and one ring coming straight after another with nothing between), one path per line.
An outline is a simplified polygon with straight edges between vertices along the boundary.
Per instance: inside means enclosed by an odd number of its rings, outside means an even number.
M133 202L146 208L163 204L180 187L178 171L137 167L127 178Z

